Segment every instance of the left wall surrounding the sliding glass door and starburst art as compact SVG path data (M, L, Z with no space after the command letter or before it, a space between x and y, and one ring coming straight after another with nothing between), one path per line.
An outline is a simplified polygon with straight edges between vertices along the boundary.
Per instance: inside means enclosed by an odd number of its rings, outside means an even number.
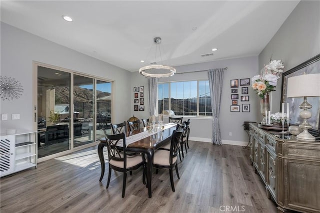
M24 92L19 99L2 101L1 114L8 114L1 121L1 133L7 128L32 130L32 61L63 67L81 73L114 80L114 107L112 119L124 121L130 117L127 109L130 100L129 72L64 46L45 40L6 23L1 23L1 76L20 81ZM20 120L11 120L11 114L20 114Z

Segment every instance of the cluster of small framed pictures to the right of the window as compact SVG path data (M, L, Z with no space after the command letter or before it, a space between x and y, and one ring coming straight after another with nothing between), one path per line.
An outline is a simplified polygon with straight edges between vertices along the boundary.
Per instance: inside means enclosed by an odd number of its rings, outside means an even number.
M232 79L230 80L231 88L231 112L250 112L250 104L245 103L249 101L248 89L250 86L250 78Z

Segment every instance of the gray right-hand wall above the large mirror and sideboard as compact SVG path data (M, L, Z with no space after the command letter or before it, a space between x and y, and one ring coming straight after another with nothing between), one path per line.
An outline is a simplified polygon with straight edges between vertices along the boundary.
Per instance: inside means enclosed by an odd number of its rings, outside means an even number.
M320 53L320 1L300 1L259 54L259 70L270 56L284 61L284 72ZM272 112L279 112L281 79L272 92Z

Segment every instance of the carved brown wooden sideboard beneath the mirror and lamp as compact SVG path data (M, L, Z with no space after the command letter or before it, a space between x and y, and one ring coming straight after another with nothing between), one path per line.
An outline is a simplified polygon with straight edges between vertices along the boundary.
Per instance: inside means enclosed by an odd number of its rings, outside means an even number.
M320 212L320 141L297 140L250 123L250 160L278 212Z

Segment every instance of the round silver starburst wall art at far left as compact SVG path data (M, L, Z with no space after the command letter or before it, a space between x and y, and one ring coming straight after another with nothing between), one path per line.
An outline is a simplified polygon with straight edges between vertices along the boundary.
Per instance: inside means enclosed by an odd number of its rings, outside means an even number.
M3 101L18 99L22 95L23 87L19 81L6 76L1 76L0 78L1 99Z

